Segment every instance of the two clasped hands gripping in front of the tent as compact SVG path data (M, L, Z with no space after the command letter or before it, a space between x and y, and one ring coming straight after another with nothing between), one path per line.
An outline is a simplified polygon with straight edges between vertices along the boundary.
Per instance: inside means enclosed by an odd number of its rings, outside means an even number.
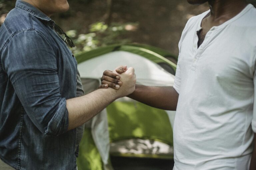
M134 68L127 66L119 66L113 72L105 70L101 77L101 85L99 88L116 89L117 97L124 97L134 92L136 84L136 74Z

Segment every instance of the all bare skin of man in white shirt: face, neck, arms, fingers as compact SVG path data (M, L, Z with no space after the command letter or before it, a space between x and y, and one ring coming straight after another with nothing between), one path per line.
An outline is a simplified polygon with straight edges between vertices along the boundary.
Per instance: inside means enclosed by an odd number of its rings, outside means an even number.
M198 33L198 47L203 43L207 32L214 26L219 26L239 14L248 3L246 0L187 0L192 5L201 5L208 2L210 13L202 20L202 29ZM116 70L121 74L125 72L125 68L120 67ZM106 70L102 76L101 88L116 88L118 79L117 74ZM117 89L117 88L116 88ZM149 106L164 110L176 110L179 94L173 87L149 87L136 85L135 91L128 97L147 104ZM256 141L256 133L254 133L254 141ZM250 170L256 170L256 142L252 153Z

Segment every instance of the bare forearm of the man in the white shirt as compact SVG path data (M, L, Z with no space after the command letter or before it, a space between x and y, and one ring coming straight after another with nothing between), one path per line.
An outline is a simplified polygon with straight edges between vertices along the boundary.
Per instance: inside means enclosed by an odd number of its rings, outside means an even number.
M175 111L179 94L173 87L153 87L136 84L135 91L128 97L155 108Z

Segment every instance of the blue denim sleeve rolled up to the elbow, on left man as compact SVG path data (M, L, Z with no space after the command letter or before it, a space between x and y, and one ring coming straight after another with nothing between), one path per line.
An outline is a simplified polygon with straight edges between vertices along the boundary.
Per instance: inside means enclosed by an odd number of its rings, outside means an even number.
M1 60L33 124L45 135L66 132L66 99L60 94L57 58L49 42L34 30L23 31L8 42Z

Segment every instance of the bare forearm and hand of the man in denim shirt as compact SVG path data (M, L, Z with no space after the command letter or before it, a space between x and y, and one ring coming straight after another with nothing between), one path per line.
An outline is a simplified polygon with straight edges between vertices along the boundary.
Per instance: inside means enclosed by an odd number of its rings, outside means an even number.
M98 89L88 95L67 100L69 130L83 125L114 100L134 92L136 75L132 67L128 68L126 72L116 73L116 75L120 76L122 81L122 86L118 90Z

